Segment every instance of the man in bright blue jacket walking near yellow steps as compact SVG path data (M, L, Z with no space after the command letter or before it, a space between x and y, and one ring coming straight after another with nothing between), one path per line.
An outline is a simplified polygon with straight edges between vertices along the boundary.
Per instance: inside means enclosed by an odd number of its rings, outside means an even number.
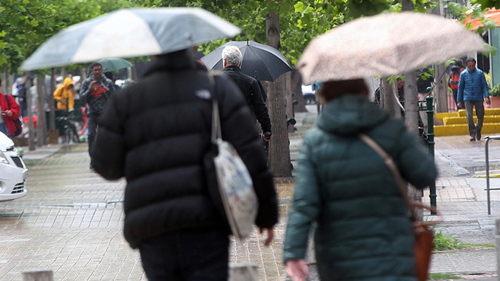
M470 142L481 139L482 122L485 120L485 104L489 104L488 83L485 73L475 67L474 58L468 58L467 69L460 74L458 81L457 106L462 108L465 104L467 125L469 127ZM474 125L474 108L477 115L477 123Z

